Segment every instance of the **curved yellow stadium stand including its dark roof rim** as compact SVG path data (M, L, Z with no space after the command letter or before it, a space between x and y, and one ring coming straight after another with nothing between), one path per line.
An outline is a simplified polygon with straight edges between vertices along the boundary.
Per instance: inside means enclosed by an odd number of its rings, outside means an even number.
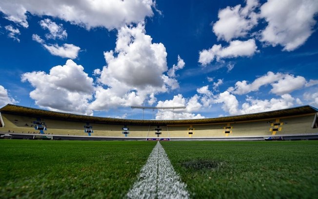
M190 140L302 136L304 139L316 139L317 112L316 108L307 105L214 119L132 120L80 116L8 104L0 109L0 134L44 134L52 135L52 139L56 136L64 136L65 139L67 136L81 139L107 137Z

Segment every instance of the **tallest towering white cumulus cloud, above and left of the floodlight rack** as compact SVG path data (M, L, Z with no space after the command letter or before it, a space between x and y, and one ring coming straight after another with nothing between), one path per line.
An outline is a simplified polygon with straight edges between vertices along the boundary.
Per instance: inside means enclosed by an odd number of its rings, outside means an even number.
M107 65L95 70L100 86L91 107L141 105L155 95L179 87L178 81L166 75L166 49L162 43L152 43L145 34L144 24L119 29L115 51L104 52ZM105 88L104 88L105 87Z

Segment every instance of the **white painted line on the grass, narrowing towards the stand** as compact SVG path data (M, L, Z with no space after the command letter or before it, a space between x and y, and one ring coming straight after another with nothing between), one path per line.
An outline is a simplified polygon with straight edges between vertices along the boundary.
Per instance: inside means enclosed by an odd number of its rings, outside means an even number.
M188 199L178 174L173 169L163 147L157 142L146 164L142 167L139 178L127 194L129 199Z

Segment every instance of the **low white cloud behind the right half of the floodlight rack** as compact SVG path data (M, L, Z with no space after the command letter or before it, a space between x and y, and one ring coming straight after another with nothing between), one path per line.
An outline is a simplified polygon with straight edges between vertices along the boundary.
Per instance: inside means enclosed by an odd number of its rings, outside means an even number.
M158 107L166 106L186 106L186 109L175 109L174 111L158 110L156 119L200 119L204 118L200 114L193 114L192 112L199 111L202 105L199 103L199 96L194 95L190 99L185 99L181 94L174 96L172 100L159 101Z

